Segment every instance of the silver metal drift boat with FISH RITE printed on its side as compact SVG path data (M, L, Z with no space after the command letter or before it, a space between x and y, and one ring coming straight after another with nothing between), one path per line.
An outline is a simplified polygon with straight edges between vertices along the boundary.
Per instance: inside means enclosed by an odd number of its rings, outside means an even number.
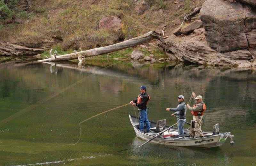
M213 132L203 132L203 137L190 137L189 131L187 129L184 130L184 135L177 135L178 128L171 127L165 125L165 119L162 121L153 122L149 121L151 128L151 132L141 132L139 130L139 119L132 115L129 115L130 121L132 123L133 129L137 135L142 140L150 140L153 139L155 136L156 138L151 140L151 142L164 144L164 145L171 145L171 146L180 146L180 147L219 147L225 143L228 137L231 138L229 142L231 146L233 146L233 138L234 135L231 135L230 132L220 132L219 133L219 124L214 125ZM159 123L163 122L164 123ZM161 125L159 125L161 124ZM217 127L216 127L217 126ZM145 127L145 126L144 126ZM168 129L167 131L163 132L164 130ZM162 134L161 131L163 132ZM157 136L158 135L158 136Z

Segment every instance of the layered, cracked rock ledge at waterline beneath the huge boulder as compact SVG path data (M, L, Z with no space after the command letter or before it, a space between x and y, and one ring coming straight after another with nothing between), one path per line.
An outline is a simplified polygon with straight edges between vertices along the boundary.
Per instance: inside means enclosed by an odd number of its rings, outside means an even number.
M253 52L256 49L235 50L225 53L217 52L206 42L204 34L188 35L177 37L171 35L165 39L165 44L161 47L166 52L173 53L176 59L181 62L189 61L195 64L213 65L213 66L252 66L254 62L249 62L253 58Z

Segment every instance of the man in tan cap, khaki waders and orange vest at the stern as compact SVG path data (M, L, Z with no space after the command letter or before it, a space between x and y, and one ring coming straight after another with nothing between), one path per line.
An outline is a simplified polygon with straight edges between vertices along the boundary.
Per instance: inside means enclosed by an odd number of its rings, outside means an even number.
M196 94L194 92L192 92L192 96L196 99L196 104L194 104L193 107L190 107L189 104L187 104L187 109L193 115L193 121L195 123L195 127L194 127L195 137L202 137L203 132L201 130L201 123L203 121L202 119L203 119L203 114L204 114L204 111L206 109L206 106L203 102L203 97L202 96L200 96L200 95L196 96ZM192 126L190 126L190 128L191 127ZM191 129L190 129L189 132L191 134Z

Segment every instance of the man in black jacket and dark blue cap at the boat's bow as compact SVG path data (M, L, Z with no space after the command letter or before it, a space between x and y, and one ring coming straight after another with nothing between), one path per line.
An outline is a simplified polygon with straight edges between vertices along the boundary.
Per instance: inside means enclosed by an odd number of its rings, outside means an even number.
M139 122L140 122L140 128L139 130L141 132L144 132L144 122L146 123L146 128L147 128L147 132L151 132L150 131L150 124L148 121L148 114L147 114L147 104L148 104L148 100L150 100L150 96L147 94L147 88L142 85L140 88L140 94L139 96L132 100L130 102L130 104L132 104L132 106L137 106L140 109L140 118L139 118Z

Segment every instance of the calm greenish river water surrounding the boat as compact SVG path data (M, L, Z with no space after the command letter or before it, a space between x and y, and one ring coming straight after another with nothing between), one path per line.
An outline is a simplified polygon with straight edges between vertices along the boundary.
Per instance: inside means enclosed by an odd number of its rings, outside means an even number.
M0 165L256 165L255 71L131 62L104 68L110 64L0 64ZM208 149L154 143L137 148L145 141L130 124L131 105L83 122L129 103L141 85L152 99L149 120L166 119L169 125L177 120L165 109L177 106L177 95L185 102L192 90L202 95L202 129L212 131L219 123L220 132L235 135L234 147L228 138Z

